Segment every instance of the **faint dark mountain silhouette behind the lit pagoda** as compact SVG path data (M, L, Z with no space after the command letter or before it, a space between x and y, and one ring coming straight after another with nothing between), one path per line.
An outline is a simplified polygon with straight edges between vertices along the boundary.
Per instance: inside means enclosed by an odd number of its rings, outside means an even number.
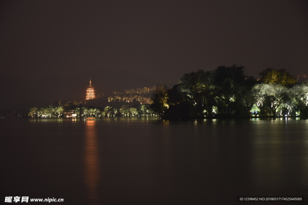
M84 100L89 81L95 92L108 93L151 87L155 80L131 71L87 71L79 75L42 76L40 79L22 79L0 73L0 111L23 110L34 106L47 106L57 100Z

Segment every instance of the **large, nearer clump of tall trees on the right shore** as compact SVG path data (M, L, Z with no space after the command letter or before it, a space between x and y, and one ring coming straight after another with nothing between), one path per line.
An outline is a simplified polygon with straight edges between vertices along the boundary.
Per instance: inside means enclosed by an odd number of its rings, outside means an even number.
M164 118L308 116L308 77L267 68L260 79L244 66L186 73L176 85L159 85L152 107Z

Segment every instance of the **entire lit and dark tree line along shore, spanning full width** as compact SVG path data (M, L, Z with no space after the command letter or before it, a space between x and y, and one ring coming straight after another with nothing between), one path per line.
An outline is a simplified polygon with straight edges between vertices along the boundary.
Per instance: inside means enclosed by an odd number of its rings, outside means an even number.
M119 92L108 97L109 102L139 103L132 106L56 102L13 114L2 112L1 117L64 117L65 113L76 117L159 115L164 119L308 116L308 75L295 77L285 69L273 68L259 75L260 79L246 75L244 66L219 66L212 71L186 73L170 88L160 84L137 92L125 91L125 95L131 95L129 98Z

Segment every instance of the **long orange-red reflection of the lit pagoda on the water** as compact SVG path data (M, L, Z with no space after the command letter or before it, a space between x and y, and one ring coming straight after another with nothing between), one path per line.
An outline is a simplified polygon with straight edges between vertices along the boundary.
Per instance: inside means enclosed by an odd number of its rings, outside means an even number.
M85 139L85 183L89 204L98 204L99 158L95 121L86 121Z

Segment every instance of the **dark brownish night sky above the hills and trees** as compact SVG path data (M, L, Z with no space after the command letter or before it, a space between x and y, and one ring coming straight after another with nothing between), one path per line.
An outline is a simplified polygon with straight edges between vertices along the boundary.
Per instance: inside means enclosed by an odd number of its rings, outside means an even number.
M308 72L308 4L280 1L1 1L0 69L35 79L129 70L158 83L239 64Z

